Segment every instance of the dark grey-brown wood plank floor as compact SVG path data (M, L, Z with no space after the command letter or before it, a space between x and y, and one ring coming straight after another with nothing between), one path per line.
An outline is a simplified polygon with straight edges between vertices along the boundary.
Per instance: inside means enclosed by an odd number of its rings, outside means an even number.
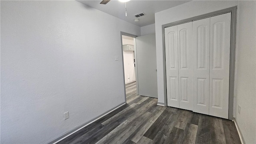
M58 144L241 144L234 122L158 106L126 85L127 104Z

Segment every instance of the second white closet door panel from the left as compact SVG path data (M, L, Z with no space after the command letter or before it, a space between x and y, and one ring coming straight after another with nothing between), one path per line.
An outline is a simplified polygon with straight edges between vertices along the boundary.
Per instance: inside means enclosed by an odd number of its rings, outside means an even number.
M178 72L180 108L193 108L192 22L178 25Z

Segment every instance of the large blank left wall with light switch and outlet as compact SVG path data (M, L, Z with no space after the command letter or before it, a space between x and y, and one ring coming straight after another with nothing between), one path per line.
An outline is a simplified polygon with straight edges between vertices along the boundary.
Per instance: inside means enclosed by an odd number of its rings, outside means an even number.
M1 143L46 143L125 102L120 31L140 35L77 1L1 1Z

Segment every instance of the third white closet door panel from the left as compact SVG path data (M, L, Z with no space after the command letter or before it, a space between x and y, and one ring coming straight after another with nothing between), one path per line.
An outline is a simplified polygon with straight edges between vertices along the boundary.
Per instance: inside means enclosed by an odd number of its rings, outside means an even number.
M193 22L193 111L209 114L210 18Z

